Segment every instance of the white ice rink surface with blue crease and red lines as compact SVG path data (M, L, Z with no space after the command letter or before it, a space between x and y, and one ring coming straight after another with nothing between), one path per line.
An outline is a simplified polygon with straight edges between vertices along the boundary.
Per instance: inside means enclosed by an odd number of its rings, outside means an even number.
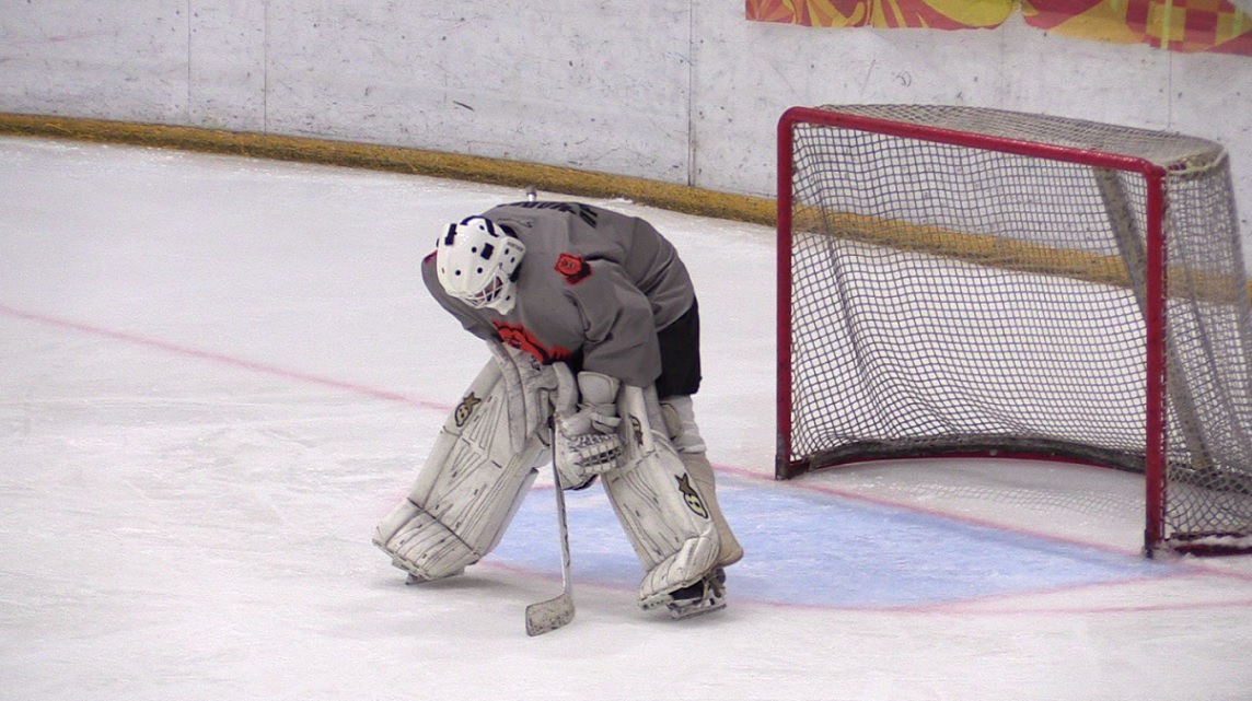
M369 537L487 361L422 288L513 189L0 139L0 698L1252 698L1252 558L1141 557L1138 476L899 461L774 482L771 232L630 202L700 294L697 417L747 548L641 611L598 487L464 576ZM541 193L545 198L558 198Z

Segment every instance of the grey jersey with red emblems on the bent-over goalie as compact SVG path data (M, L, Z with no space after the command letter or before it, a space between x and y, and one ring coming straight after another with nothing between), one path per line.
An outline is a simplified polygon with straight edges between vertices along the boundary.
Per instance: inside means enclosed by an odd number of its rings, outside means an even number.
M647 387L661 374L656 333L695 300L674 245L647 222L580 203L525 202L483 217L523 244L517 302L508 314L448 295L422 263L431 294L473 334L542 363L581 354L582 369Z

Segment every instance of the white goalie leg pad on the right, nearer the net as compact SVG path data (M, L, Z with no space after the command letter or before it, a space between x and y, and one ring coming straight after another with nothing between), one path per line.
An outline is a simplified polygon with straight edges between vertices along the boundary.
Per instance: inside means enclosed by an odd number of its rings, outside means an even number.
M646 571L639 587L644 608L669 603L671 592L700 582L716 567L720 550L709 507L660 414L655 388L622 388L622 467L603 474L608 501Z

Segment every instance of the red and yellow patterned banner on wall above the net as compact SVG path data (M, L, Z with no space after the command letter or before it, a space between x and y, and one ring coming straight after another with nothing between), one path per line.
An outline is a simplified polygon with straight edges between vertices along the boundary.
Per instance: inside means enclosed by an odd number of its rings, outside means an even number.
M1171 51L1252 56L1252 18L1229 0L746 0L747 19L805 26L990 29L1019 6L1047 31Z

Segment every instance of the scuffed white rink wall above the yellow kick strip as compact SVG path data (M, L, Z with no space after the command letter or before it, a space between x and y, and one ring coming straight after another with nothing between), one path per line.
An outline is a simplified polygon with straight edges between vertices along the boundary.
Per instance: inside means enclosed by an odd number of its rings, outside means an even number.
M0 111L324 136L774 192L784 109L943 103L1206 136L1252 212L1252 58L749 23L737 0L0 0Z

